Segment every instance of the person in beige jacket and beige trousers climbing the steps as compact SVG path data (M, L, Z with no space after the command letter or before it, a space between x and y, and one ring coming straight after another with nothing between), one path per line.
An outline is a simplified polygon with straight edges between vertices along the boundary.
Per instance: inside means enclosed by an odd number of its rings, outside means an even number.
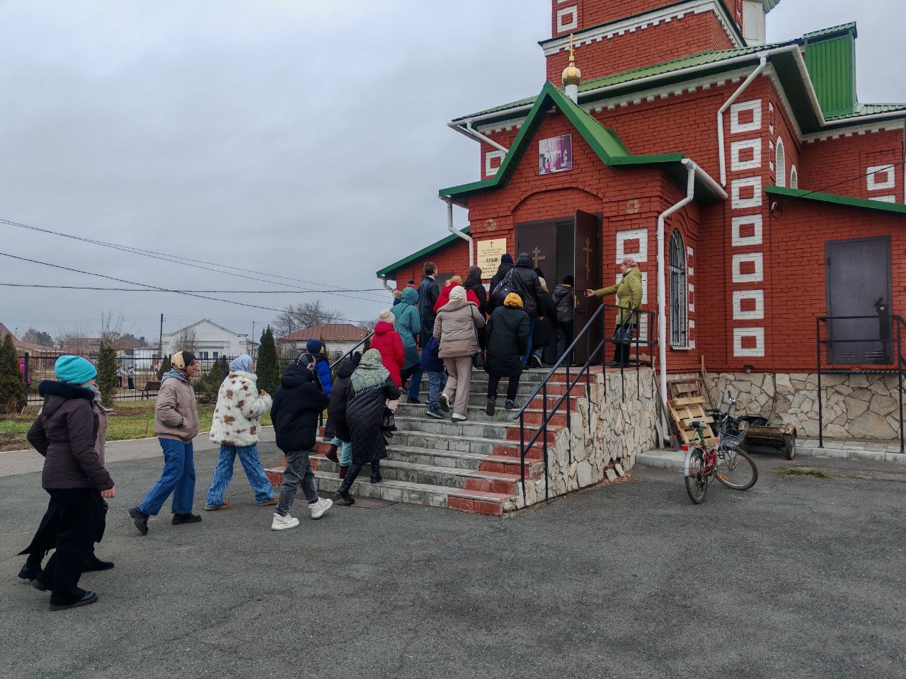
M449 411L453 403L454 422L464 422L468 407L468 390L472 385L472 359L479 349L478 330L485 327L485 317L478 305L466 298L466 289L457 285L450 291L450 301L438 311L434 337L440 344L438 358L443 359L449 378L438 398L438 406Z

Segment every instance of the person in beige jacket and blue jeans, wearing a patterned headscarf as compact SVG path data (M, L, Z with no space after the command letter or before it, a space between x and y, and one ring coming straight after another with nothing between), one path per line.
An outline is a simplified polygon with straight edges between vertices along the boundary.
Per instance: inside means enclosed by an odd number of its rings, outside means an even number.
M198 435L198 405L192 388L195 368L195 355L178 351L170 358L170 370L160 382L154 407L154 433L164 452L164 469L141 504L129 511L142 535L148 534L148 518L157 516L170 494L174 526L201 521L198 514L192 513L195 498L192 440Z

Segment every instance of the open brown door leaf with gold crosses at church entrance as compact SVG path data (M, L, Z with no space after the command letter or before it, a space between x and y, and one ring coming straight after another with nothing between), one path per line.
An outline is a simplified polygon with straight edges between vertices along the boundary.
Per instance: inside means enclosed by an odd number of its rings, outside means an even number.
M597 215L589 215L587 212L576 210L574 219L575 240L573 241L573 275L575 277L575 320L573 328L576 336L582 332L585 323L588 322L594 311L601 305L601 301L593 297L585 297L586 290L597 290L602 287L601 277L601 218ZM585 339L581 339L575 350L575 362L584 363L588 358L587 351L594 350L602 339L602 323L600 320L594 323L590 331L589 342L586 345ZM586 346L588 349L586 349ZM604 348L604 354L598 354L594 357L596 363L600 363L607 350ZM604 362L610 360L604 358Z

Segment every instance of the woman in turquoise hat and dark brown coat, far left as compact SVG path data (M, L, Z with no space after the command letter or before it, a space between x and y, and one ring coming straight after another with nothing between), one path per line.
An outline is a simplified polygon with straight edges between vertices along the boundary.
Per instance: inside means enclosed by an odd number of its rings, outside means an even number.
M62 610L98 599L78 584L103 531L101 492L114 493L111 475L95 450L99 422L92 387L97 370L85 359L62 356L53 372L59 381L45 380L38 387L44 405L28 431L28 442L46 458L41 484L51 499L33 544L23 553L40 564L46 553L42 533L55 531L56 551L32 584L51 589L51 610Z

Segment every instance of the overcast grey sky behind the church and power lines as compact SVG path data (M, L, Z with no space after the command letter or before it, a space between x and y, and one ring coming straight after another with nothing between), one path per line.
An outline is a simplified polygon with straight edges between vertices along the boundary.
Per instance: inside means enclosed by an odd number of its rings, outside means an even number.
M322 286L443 237L437 191L478 177L452 118L535 94L550 0L0 1L0 218ZM901 0L784 0L781 40L859 22L859 95L906 100L890 58ZM817 24L815 22L818 22ZM457 209L458 226L466 225ZM0 225L0 252L132 282L280 286ZM116 283L0 257L0 282ZM302 285L303 283L297 283ZM310 286L318 287L318 286ZM373 318L386 294L323 301ZM234 295L282 308L313 295ZM209 318L255 334L271 311L174 294L0 287L0 321L156 341Z

